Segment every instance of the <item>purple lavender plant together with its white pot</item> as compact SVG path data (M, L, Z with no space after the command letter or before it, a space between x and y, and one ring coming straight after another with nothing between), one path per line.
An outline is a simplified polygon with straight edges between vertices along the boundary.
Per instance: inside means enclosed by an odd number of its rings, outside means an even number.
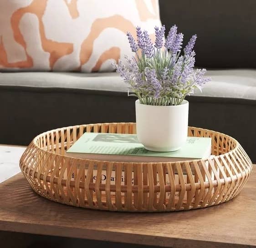
M164 41L165 27L155 27L153 44L146 30L137 30L137 42L128 32L128 41L134 52L125 57L128 66L119 60L113 64L122 79L128 83L135 102L138 141L156 152L176 151L186 141L189 102L185 96L210 81L205 69L193 70L196 35L193 35L181 55L183 34L177 26L169 30Z

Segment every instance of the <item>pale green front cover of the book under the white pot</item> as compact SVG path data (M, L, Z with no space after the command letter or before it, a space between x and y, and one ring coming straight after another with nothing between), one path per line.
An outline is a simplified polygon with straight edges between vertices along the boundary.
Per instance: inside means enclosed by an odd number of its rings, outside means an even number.
M152 152L138 142L137 135L88 132L84 133L67 153L203 158L209 154L210 147L211 138L188 137L178 151Z

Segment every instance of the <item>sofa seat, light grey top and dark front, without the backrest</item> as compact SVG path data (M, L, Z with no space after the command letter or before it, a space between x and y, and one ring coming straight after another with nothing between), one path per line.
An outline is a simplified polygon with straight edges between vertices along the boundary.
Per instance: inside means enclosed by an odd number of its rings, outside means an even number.
M188 96L189 125L236 138L256 162L256 70L208 70ZM0 73L0 143L27 145L57 127L135 121L136 97L117 73ZM6 107L5 107L6 106Z

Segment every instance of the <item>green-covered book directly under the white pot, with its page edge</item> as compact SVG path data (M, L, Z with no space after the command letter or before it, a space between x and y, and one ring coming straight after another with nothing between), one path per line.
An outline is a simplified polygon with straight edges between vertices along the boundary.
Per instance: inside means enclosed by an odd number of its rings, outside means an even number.
M138 142L135 134L86 132L67 150L67 156L114 162L177 162L211 155L211 138L187 137L175 152L152 152Z

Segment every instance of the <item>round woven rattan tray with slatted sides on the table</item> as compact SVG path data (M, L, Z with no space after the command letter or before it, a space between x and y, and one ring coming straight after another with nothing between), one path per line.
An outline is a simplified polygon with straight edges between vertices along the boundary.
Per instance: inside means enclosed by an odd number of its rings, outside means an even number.
M189 127L211 137L209 159L164 163L102 162L65 156L84 132L136 133L135 123L64 127L38 135L20 158L33 190L49 200L82 208L169 212L226 202L241 191L252 163L232 137Z

